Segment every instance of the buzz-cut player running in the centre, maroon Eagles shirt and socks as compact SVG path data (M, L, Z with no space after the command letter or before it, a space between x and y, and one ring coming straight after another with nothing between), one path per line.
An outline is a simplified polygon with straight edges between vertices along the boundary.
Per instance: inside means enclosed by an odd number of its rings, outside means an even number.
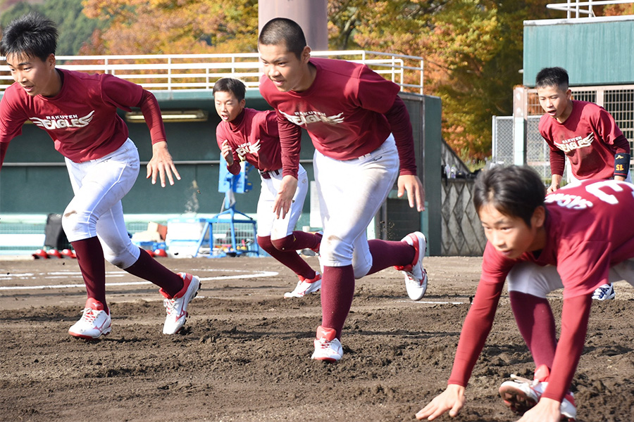
M302 28L286 18L263 26L258 48L260 92L276 110L282 145L282 183L274 210L285 217L298 184L300 132L309 132L321 207L323 319L313 359L337 361L354 280L392 265L405 271L410 298L423 297L426 241L416 232L401 242L366 238L366 229L398 178L398 195L423 210L414 139L399 87L366 65L311 58ZM400 165L400 171L399 171Z

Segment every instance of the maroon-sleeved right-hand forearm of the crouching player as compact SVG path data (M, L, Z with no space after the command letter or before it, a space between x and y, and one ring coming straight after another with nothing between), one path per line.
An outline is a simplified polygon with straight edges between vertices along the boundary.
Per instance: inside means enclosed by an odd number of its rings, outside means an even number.
M542 397L561 402L568 392L583 352L591 305L590 295L564 299L561 311L561 336L557 342L548 386Z

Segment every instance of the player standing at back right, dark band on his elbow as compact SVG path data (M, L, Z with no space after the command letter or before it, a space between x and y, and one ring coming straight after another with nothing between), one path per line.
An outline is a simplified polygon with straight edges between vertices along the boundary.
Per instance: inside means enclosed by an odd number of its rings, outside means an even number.
M573 100L568 88L568 72L543 68L535 87L545 111L539 131L550 147L552 181L548 193L557 191L564 174L565 158L577 180L612 179L629 181L630 143L614 117L595 103ZM597 300L614 299L611 283L599 286Z

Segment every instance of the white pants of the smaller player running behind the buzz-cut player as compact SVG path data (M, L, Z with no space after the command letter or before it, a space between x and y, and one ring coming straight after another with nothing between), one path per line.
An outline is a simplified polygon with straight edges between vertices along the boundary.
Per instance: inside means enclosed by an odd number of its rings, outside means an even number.
M273 203L278 196L278 191L282 184L282 172L280 174L271 174L271 179L263 179L260 188L260 198L258 200L258 236L271 236L271 240L285 238L292 234L295 224L302 215L304 208L304 200L308 192L309 182L306 170L299 165L299 173L297 174L297 190L293 196L293 202L290 210L284 218L278 218L273 212Z

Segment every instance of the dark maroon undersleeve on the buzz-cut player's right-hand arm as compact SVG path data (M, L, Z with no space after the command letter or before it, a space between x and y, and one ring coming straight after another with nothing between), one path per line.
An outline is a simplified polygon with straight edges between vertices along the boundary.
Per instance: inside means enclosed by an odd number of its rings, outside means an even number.
M405 103L401 97L394 98L392 108L385 113L390 130L394 135L399 152L400 174L416 175L416 154L414 152L414 137L411 131L411 121Z

